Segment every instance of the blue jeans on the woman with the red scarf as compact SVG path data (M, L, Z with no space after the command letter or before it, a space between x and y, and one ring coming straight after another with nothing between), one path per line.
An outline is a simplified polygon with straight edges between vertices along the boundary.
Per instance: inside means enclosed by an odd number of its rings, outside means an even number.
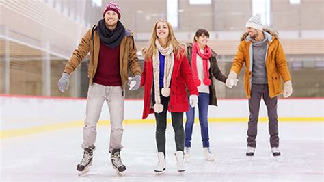
M199 93L198 95L198 112L200 130L202 134L202 147L209 147L208 135L208 107L209 107L209 94ZM189 106L189 111L186 112L186 126L185 126L185 147L191 147L191 136L193 129L193 122L195 120L195 108Z

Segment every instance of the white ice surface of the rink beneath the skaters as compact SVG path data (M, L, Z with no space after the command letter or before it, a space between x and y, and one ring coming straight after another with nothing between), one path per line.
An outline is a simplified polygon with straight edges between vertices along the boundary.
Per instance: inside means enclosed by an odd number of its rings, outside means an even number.
M94 164L77 175L83 150L82 127L72 127L1 142L0 181L323 181L323 122L282 122L281 157L271 155L267 123L258 125L254 157L245 157L246 122L211 122L210 142L215 161L202 155L200 126L195 125L191 161L176 172L172 126L167 126L167 166L154 173L157 151L154 124L124 125L122 160L126 175L117 176L108 153L109 125L98 126Z

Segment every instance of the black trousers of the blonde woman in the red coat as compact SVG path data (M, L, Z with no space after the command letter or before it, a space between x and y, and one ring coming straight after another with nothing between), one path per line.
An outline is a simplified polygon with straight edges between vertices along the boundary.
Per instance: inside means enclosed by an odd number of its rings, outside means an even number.
M154 96L154 94L152 94ZM156 113L157 130L155 140L157 141L157 151L163 152L165 156L165 130L167 129L167 106L170 97L161 96L163 112ZM176 140L176 151L183 151L185 148L185 131L183 130L183 112L171 112L172 127L174 129L174 140Z

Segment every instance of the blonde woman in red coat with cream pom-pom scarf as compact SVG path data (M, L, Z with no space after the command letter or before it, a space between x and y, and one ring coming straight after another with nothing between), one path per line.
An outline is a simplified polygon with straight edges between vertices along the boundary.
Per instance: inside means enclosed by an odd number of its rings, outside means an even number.
M148 114L154 113L157 122L155 139L159 163L154 171L165 170L165 129L169 111L175 133L178 171L183 172L185 171L183 112L189 110L186 86L190 93L191 107L198 102L198 90L193 84L185 47L174 37L170 23L159 20L154 24L150 43L144 48L143 55L144 71L141 79L141 86L145 86L143 119L147 118Z

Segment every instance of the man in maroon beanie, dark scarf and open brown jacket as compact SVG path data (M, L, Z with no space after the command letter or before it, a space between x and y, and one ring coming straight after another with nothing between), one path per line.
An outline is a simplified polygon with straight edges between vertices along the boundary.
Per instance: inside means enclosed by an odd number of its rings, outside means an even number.
M109 153L111 164L118 174L123 174L122 164L122 121L124 120L124 88L128 81L128 68L134 75L129 79L130 90L137 90L141 82L141 67L136 55L133 33L124 28L120 19L120 8L110 2L103 12L103 19L83 36L79 46L66 63L59 79L59 90L68 89L70 74L77 68L90 51L88 77L90 86L87 92L85 126L83 127L83 159L77 165L79 175L85 174L92 165L95 149L96 125L103 103L109 107L111 133Z

